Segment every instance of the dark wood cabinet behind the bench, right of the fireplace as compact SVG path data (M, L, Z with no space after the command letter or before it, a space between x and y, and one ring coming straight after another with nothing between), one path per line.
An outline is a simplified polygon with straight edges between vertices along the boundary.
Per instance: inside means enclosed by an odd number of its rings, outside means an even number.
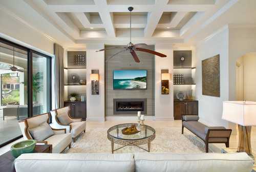
M174 119L181 115L198 115L198 100L174 100Z

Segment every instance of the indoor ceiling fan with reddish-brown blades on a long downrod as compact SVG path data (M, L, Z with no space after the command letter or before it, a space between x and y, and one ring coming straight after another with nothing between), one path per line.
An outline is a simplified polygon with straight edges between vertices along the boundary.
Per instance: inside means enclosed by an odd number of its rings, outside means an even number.
M121 53L123 51L126 51L126 50L129 50L129 52L132 54L134 60L136 62L140 62L138 56L136 55L135 51L143 51L143 52L146 52L146 53L151 53L151 54L155 54L157 56L160 56L160 57L166 57L166 55L164 54L161 54L161 53L158 53L156 51L152 51L152 50L147 50L147 49L143 49L143 48L140 48L140 47L146 47L147 45L146 44L132 44L132 41L131 41L131 24L132 24L132 11L133 11L133 7L128 7L128 10L130 11L130 43L128 44L128 47L110 47L110 48L105 48L105 49L101 49L101 50L98 50L96 52L99 52L99 51L105 51L105 50L109 50L109 49L115 49L115 48L124 48L124 50L118 52L118 53ZM114 54L113 56L117 55L118 53ZM113 56L111 56L110 58L108 58L106 61L108 61L109 59L111 59Z

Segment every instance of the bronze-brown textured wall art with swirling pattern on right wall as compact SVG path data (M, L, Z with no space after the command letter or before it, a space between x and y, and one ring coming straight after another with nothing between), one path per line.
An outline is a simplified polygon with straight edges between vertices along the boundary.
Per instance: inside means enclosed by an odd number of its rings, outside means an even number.
M203 95L220 97L220 55L202 60Z

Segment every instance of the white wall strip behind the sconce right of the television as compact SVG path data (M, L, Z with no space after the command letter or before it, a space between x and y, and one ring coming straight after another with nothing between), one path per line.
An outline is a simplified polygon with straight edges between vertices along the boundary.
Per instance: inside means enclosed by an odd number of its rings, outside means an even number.
M155 50L167 57L155 56L155 120L174 120L173 77L169 80L169 94L161 94L161 70L173 75L173 44L156 44Z

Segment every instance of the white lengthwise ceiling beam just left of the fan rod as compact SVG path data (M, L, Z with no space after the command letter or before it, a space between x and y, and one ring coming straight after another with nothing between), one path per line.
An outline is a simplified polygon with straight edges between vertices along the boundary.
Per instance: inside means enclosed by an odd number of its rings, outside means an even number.
M105 27L105 31L109 37L116 37L115 28L114 28L114 18L113 13L109 12L107 7L106 0L94 0L95 5L97 6L100 18Z

